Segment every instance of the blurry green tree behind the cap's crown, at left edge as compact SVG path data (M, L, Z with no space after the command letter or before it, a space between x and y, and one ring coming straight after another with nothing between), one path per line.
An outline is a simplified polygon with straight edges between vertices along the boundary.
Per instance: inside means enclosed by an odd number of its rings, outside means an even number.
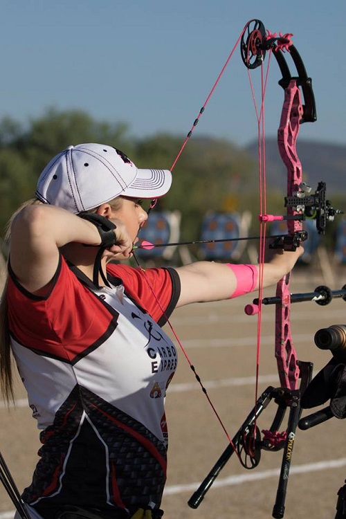
M35 194L39 173L55 154L68 145L100 142L121 147L131 154L133 146L124 122L98 122L82 111L48 109L43 117L24 126L11 118L0 121L0 228L12 212Z

